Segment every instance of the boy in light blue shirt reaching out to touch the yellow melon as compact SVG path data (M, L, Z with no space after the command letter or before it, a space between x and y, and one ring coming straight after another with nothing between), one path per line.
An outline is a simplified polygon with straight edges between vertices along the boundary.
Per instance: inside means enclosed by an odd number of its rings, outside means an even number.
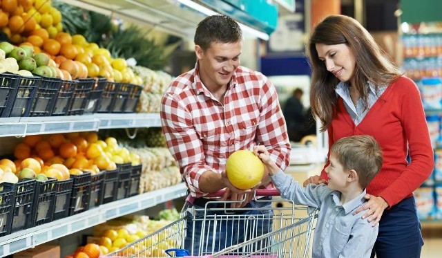
M328 185L302 187L284 174L265 146L253 149L269 171L282 198L320 210L316 223L312 257L370 257L378 225L353 212L365 203L365 187L383 163L382 151L372 136L351 136L336 141L325 169Z

